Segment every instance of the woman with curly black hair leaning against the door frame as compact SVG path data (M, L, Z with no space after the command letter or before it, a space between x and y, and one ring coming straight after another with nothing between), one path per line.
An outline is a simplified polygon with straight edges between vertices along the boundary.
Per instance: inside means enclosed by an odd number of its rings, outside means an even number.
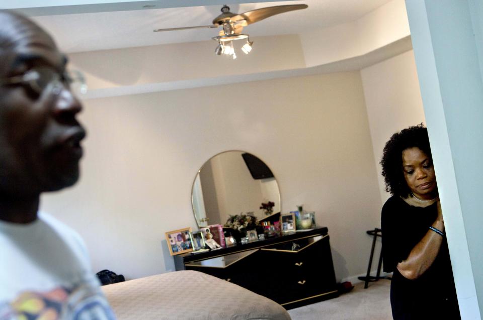
M380 163L392 195L381 229L393 318L460 319L427 129L393 134Z

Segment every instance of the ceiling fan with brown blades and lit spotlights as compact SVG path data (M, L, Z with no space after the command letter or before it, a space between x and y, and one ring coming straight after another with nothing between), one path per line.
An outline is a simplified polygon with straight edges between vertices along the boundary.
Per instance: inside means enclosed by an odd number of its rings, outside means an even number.
M154 32L160 31L175 31L175 30L187 30L197 28L218 28L222 27L218 36L211 39L218 42L218 46L215 49L215 53L218 55L227 54L231 55L233 59L236 59L236 54L233 48L233 40L247 39L247 43L241 47L241 51L248 54L252 51L253 41L250 41L249 35L241 33L243 28L256 23L260 20L282 14L289 11L300 10L307 8L307 5L286 5L286 6L274 6L266 7L256 10L244 12L243 14L234 14L230 12L230 8L224 5L221 8L221 15L213 19L212 25L207 26L195 26L195 27L181 27L181 28L168 28L168 29L156 29Z

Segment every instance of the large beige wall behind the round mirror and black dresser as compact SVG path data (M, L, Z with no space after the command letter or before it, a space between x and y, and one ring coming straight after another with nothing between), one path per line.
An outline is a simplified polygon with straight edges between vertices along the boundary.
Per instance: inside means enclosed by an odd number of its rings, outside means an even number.
M329 228L338 280L359 275L381 206L367 119L359 72L88 100L82 179L42 208L81 233L95 271L171 271L165 232L195 228L197 170L246 150L277 177L282 211L304 204Z

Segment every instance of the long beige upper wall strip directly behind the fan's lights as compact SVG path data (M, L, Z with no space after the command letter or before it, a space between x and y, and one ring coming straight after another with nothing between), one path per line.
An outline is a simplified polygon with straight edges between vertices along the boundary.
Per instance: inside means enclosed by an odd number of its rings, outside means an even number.
M90 90L305 67L298 35L252 40L257 54L246 55L240 50L242 43L235 43L235 60L216 55L212 40L78 52L69 59L72 68L84 72Z

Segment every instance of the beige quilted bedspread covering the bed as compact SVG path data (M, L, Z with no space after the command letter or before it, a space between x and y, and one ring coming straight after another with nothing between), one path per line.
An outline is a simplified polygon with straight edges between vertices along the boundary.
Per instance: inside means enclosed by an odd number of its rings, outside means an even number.
M197 271L102 287L119 320L290 320L276 302Z

